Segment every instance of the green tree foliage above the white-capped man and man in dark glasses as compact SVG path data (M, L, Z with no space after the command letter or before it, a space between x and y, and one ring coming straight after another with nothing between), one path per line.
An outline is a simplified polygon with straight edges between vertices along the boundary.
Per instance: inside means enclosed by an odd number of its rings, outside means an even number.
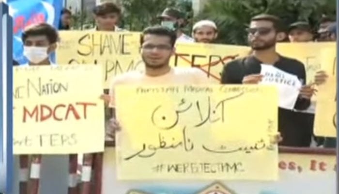
M279 16L286 26L308 21L316 28L322 15L335 16L336 0L209 0L194 20L214 20L220 43L246 45L249 20L262 13Z

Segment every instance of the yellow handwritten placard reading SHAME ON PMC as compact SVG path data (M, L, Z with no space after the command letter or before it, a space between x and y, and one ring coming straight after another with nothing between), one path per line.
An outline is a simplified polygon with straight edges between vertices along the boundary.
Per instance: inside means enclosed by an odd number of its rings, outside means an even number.
M139 32L62 31L58 64L103 65L105 89L111 77L143 68Z

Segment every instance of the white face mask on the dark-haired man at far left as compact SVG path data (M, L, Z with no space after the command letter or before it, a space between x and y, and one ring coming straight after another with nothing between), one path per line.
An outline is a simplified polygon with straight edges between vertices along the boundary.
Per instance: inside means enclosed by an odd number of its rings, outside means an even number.
M38 64L48 58L48 47L24 47L24 55L33 63Z

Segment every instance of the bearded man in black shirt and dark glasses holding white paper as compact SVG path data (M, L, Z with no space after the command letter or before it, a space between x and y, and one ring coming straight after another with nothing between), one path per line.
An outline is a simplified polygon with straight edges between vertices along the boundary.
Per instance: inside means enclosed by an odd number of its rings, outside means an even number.
M276 16L259 15L251 19L248 29L248 41L252 53L242 59L234 60L224 66L221 83L229 84L257 84L262 81L260 75L261 64L274 65L276 68L293 74L302 81L302 88L295 103L294 109L306 110L310 105L310 98L314 90L305 85L306 71L304 65L291 58L283 57L276 52L276 43L279 41L280 20ZM260 110L258 110L258 113ZM254 115L255 116L255 115ZM309 146L312 130L302 127L303 116L293 110L278 109L278 130L282 136L282 146Z

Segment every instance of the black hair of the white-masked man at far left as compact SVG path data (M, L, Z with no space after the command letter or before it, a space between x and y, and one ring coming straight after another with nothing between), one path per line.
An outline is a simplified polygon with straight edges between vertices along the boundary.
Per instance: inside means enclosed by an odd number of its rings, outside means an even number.
M21 35L22 42L25 42L29 36L45 35L49 44L54 44L59 40L58 31L47 23L33 24L27 27Z

